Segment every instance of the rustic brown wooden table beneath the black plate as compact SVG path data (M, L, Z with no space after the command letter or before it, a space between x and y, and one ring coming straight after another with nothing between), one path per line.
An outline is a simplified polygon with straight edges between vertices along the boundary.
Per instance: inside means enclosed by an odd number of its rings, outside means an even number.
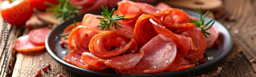
M256 76L256 64L250 59L256 58L256 1L253 0L224 0L223 6L225 14L233 17L233 21L226 21L224 17L218 19L231 33L233 37L233 47L227 58L223 60L219 68L214 71L206 71L201 76ZM38 68L51 64L53 67L48 73L42 73L43 76L52 76L61 74L63 76L80 76L65 68L50 57L47 51L32 53L16 53L13 50L13 44L17 37L28 34L29 30L24 27L11 27L8 25L8 44L4 42L4 20L0 18L0 76L35 76ZM44 26L35 16L27 24ZM5 59L5 51L8 50ZM3 63L6 61L9 65L8 72L5 72Z

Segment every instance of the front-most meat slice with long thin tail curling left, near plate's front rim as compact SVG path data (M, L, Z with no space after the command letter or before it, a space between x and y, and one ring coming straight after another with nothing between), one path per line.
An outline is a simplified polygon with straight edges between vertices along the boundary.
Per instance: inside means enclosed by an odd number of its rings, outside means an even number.
M107 59L97 58L96 56L88 52L82 54L82 57L91 57L92 59L96 59L99 62L105 65L108 65L109 67L119 69L119 70L127 70L127 69L133 68L143 56L144 56L143 51L140 51L137 54L116 56L116 57L107 58Z

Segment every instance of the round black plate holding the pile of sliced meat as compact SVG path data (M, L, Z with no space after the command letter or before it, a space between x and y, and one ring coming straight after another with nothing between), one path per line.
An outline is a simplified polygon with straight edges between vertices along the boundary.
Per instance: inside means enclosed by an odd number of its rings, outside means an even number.
M199 14L193 11L184 10L189 15L199 17ZM100 12L94 12L92 14L99 14ZM70 19L60 25L58 27L54 28L50 34L48 35L46 39L46 48L48 53L51 55L51 57L57 61L59 64L61 64L66 69L75 72L80 75L84 76L188 76L188 75L196 75L200 74L202 72L206 72L209 70L212 70L212 67L218 65L218 62L224 59L224 57L228 54L229 50L232 47L233 41L230 33L226 30L226 28L216 21L214 23L214 26L216 26L219 31L219 47L218 48L208 48L206 49L205 53L208 57L214 57L214 59L208 61L207 58L205 58L206 63L197 65L193 68L188 68L180 71L174 71L174 72L163 72L163 73L155 73L155 74L115 74L115 73L105 73L100 71L94 71L94 70L88 70L79 68L77 66L74 66L72 64L69 64L62 60L62 57L65 56L65 54L61 54L62 51L68 50L68 48L62 48L59 45L60 38L58 37L59 34L62 33L62 31L71 23L73 23L74 20L81 21L83 18L83 15L77 16L73 19ZM209 21L210 18L206 17L205 21ZM67 52L68 54L69 52Z

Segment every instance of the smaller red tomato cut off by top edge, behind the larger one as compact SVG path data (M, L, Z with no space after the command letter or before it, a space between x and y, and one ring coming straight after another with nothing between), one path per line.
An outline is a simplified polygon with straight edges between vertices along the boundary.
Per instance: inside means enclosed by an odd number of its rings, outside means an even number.
M45 11L46 8L49 7L48 5L45 4L46 2L55 5L59 4L57 0L31 0L31 5L35 7L37 10Z

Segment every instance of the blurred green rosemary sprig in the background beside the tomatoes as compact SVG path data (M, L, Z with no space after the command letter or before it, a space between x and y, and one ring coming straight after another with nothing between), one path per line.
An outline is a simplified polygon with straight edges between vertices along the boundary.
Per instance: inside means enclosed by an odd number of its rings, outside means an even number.
M47 8L47 11L54 12L56 18L60 18L66 21L68 18L73 18L79 13L78 9L81 9L81 6L73 6L69 0L58 0L59 5L54 5L51 3L46 3L46 5L54 7L53 9Z

